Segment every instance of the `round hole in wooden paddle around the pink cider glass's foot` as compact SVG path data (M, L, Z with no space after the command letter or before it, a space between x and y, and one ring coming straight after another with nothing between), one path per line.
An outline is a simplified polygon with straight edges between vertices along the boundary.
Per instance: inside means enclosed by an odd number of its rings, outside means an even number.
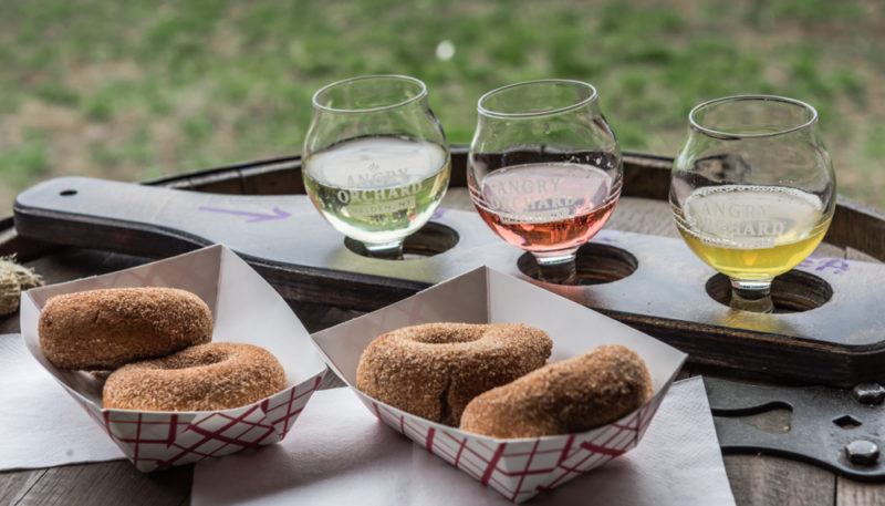
M531 254L519 257L517 267L525 276L538 277L538 262ZM598 242L587 242L577 250L575 285L603 285L617 281L632 275L639 267L639 261L626 249Z

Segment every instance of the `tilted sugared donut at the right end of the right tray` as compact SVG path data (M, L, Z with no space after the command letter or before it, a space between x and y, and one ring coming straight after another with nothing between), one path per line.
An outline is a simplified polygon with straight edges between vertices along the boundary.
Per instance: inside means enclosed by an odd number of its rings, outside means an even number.
M643 359L625 347L604 345L477 396L464 410L460 428L498 438L583 432L650 397Z

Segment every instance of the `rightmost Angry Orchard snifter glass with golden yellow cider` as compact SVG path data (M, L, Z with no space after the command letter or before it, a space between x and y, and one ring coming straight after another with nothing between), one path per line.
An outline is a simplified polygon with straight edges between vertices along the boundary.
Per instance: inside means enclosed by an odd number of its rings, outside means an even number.
M691 250L731 279L731 307L771 312L771 282L823 239L835 207L818 112L793 99L740 95L689 114L670 206Z

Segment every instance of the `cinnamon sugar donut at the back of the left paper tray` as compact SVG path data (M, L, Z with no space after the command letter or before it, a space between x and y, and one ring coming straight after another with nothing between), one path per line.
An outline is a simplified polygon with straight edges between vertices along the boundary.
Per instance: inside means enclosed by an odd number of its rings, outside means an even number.
M115 369L212 339L212 313L175 288L111 288L55 296L40 312L40 349L61 369Z

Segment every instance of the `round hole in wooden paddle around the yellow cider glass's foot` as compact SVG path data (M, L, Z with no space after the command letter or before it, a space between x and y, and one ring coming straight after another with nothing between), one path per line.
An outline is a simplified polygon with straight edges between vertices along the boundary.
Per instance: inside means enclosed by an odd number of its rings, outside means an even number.
M707 280L707 295L728 306L731 302L731 281L717 273ZM833 287L823 279L801 270L791 270L774 278L771 299L775 313L809 311L820 308L833 297Z

